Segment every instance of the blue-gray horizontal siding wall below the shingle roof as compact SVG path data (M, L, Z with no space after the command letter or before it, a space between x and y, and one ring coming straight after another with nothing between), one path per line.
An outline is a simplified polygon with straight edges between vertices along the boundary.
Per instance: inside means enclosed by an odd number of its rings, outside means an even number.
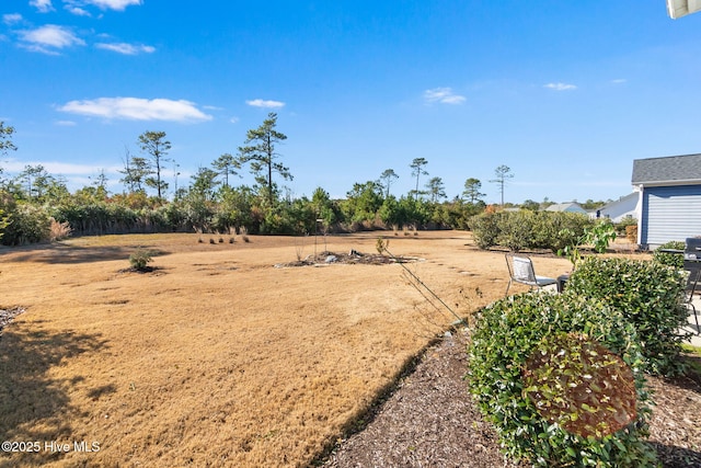
M651 249L701 236L701 185L645 187L641 243Z

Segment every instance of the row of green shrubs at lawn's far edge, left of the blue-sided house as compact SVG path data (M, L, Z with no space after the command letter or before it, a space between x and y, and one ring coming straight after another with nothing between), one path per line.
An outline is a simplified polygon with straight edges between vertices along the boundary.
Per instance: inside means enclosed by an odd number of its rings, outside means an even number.
M550 249L553 252L576 244L594 221L575 213L519 212L483 213L470 218L472 236L481 249L507 247Z

